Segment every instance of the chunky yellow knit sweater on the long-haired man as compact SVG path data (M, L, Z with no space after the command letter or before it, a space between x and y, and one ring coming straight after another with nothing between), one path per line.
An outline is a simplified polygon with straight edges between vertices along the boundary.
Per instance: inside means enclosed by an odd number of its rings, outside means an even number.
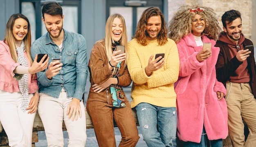
M175 42L168 38L162 46L157 40L148 40L143 46L132 39L128 42L128 70L133 80L131 107L141 102L147 102L159 107L176 107L176 93L173 83L177 81L180 69L180 60ZM146 75L145 67L151 55L165 53L165 63L161 69ZM136 84L135 84L136 83Z

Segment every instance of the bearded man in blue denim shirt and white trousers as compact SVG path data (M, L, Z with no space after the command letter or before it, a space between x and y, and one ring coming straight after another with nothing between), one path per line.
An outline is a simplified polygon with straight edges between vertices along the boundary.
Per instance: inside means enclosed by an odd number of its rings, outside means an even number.
M48 147L64 146L62 123L67 128L69 147L85 147L86 121L83 93L87 78L86 42L82 35L63 29L64 15L57 2L42 8L47 33L33 42L31 56L46 53L48 68L37 73L38 113ZM60 58L60 61L54 61Z

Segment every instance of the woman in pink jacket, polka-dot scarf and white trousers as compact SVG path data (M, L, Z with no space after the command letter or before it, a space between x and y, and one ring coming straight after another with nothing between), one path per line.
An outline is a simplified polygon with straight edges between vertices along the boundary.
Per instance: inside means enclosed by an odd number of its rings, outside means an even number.
M39 100L34 73L47 67L48 58L32 62L29 20L13 14L0 41L0 122L11 147L31 147ZM36 56L37 59L37 56ZM43 63L43 60L46 61Z

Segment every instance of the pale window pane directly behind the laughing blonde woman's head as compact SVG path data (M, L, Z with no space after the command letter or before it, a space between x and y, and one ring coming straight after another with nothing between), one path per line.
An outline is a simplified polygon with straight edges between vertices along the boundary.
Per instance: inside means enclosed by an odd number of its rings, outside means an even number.
M110 7L110 15L121 14L126 22L128 41L132 39L132 7Z

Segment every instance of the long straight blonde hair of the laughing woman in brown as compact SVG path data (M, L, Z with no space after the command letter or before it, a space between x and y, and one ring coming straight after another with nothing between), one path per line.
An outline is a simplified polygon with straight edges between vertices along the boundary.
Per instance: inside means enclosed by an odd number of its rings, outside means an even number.
M121 20L121 23L122 23L122 26L123 26L122 27L123 28L122 37L119 40L119 42L120 42L120 45L125 46L124 52L126 53L126 59L125 59L125 66L126 66L127 61L128 61L127 30L126 30L126 23L125 23L124 17L121 16L121 14L115 13L115 14L112 14L111 16L108 17L108 20L106 22L106 27L105 27L105 49L106 49L106 53L107 53L107 56L108 56L108 61L110 61L111 60L111 55L113 53L112 43L114 43L114 40L112 40L112 38L111 38L112 23L113 23L115 18L119 18Z

